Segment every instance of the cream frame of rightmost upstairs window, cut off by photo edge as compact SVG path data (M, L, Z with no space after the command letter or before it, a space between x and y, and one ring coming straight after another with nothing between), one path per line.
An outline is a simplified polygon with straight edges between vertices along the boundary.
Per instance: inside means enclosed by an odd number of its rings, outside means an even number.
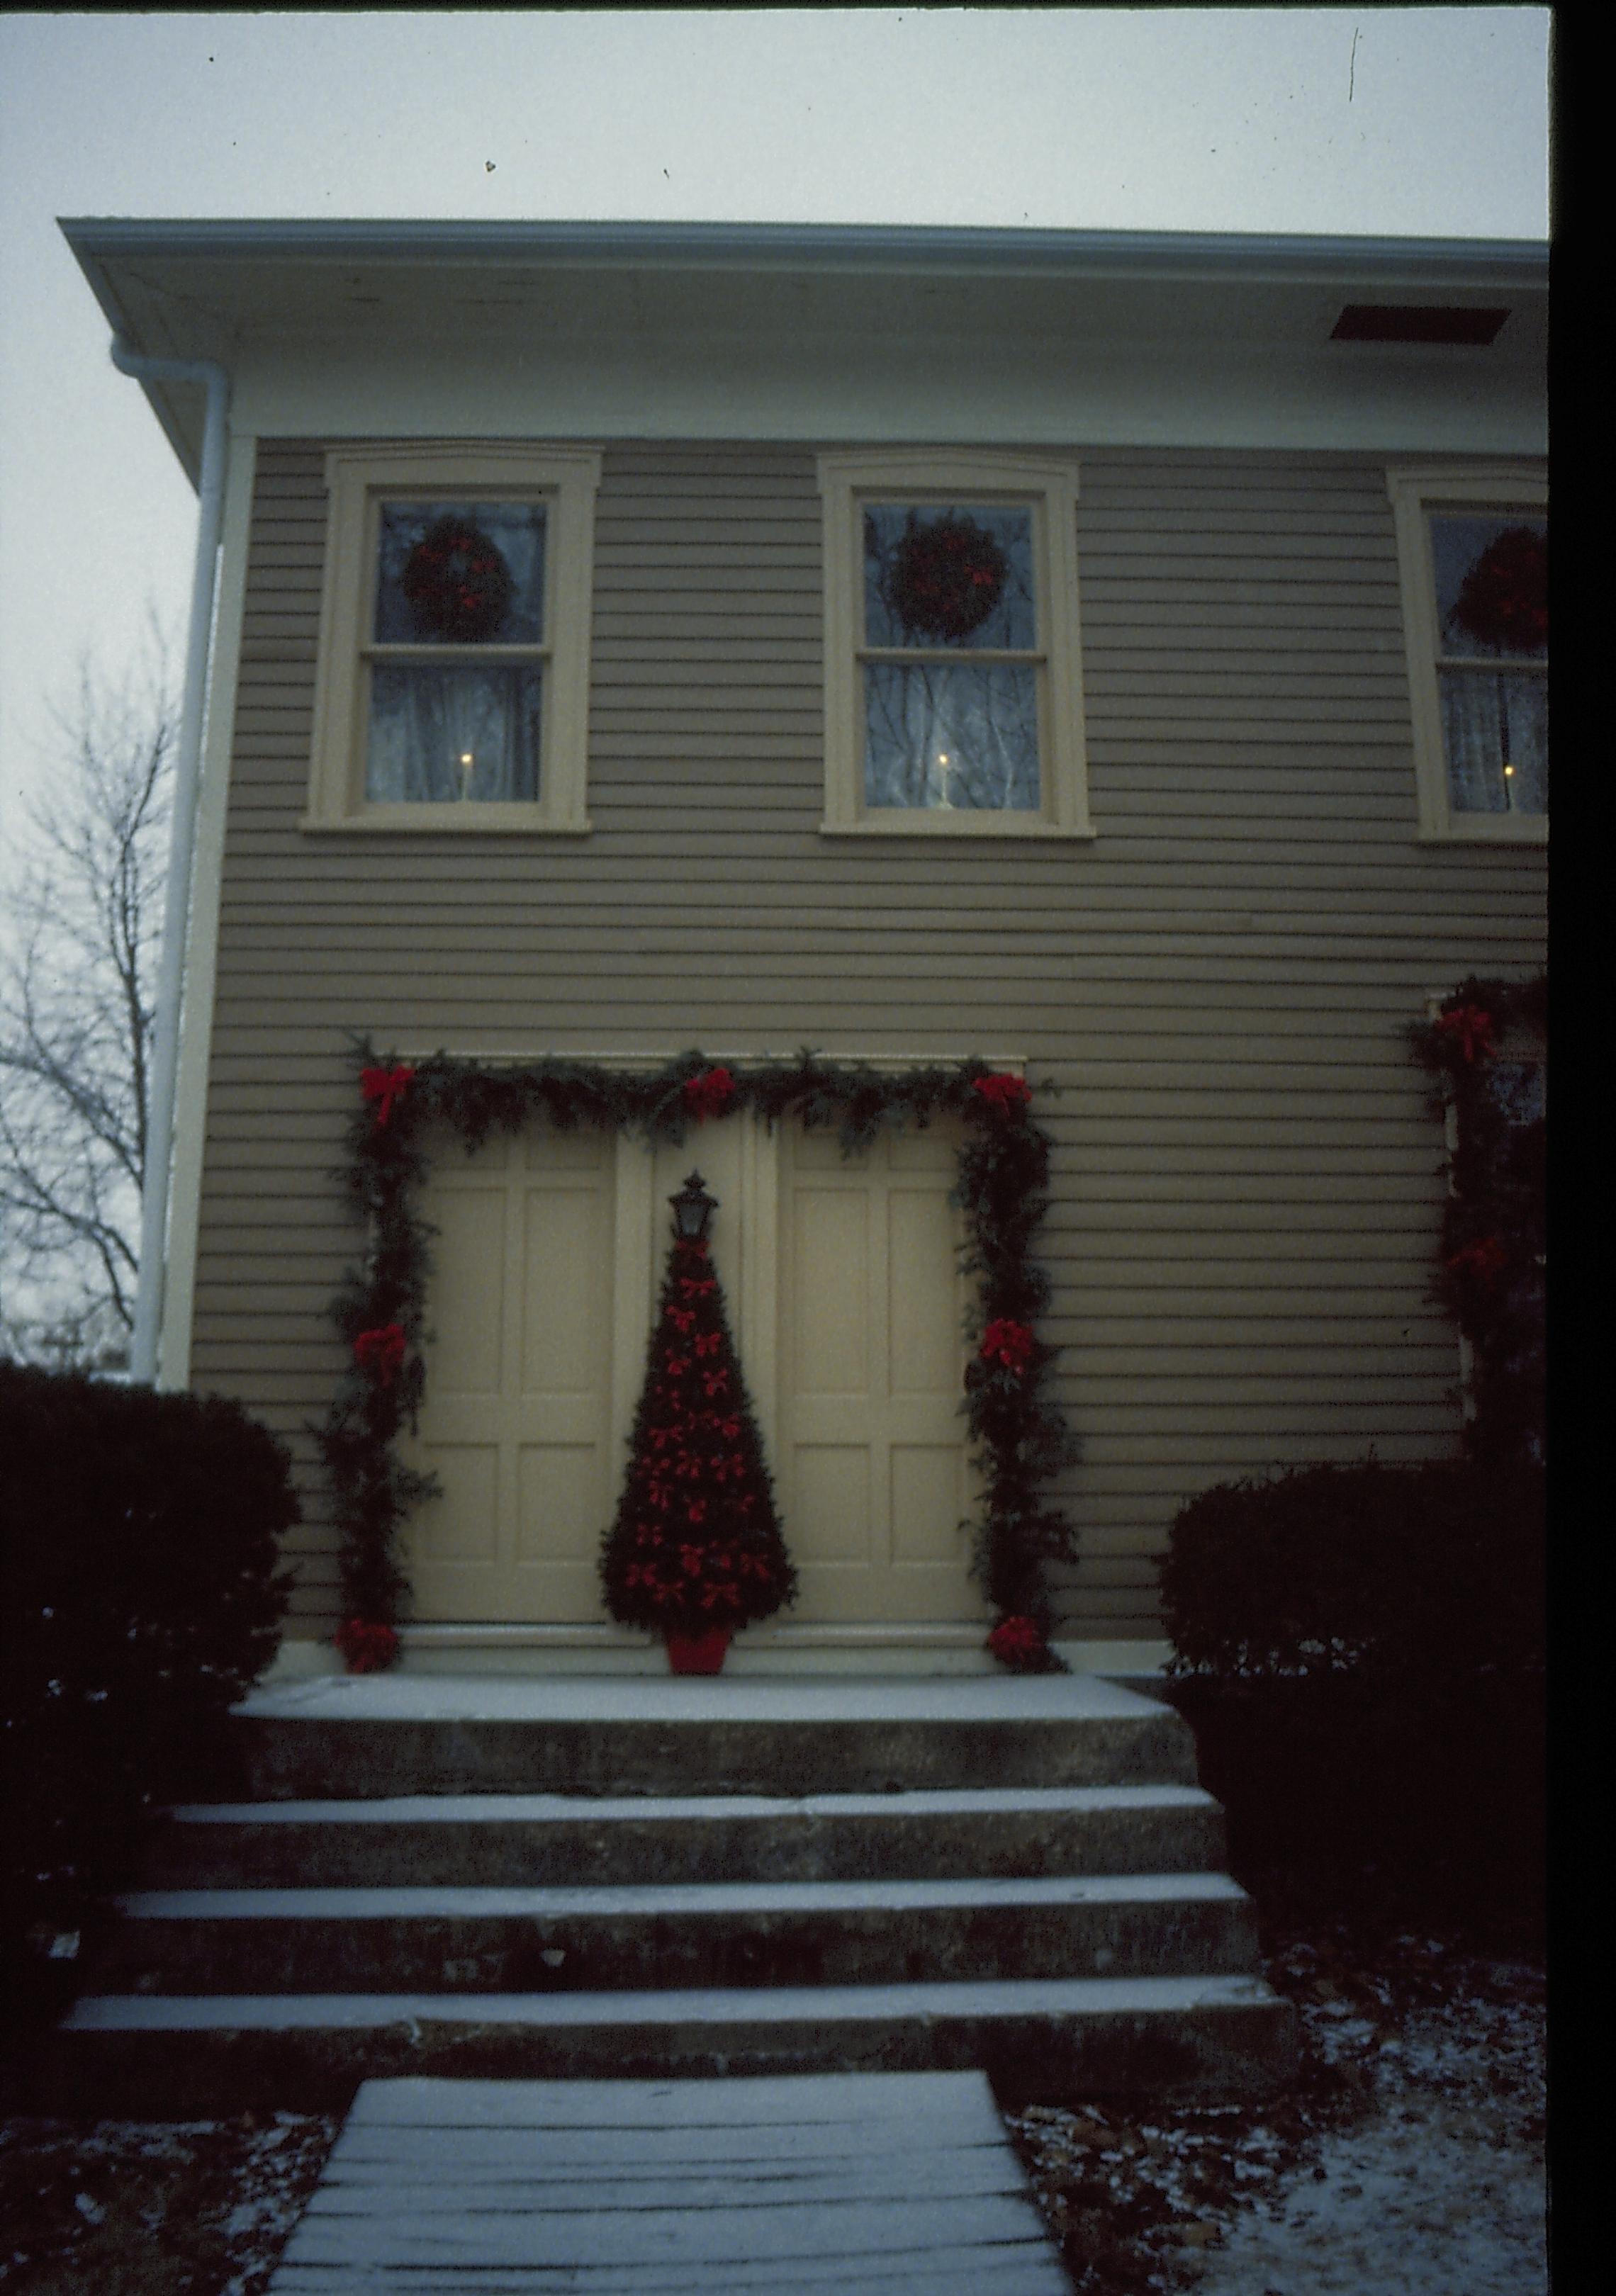
M1520 464L1483 471L1386 471L1386 491L1398 533L1419 836L1439 845L1547 845L1547 813L1462 813L1451 799L1437 687L1442 657L1437 569L1428 523L1432 510L1547 510L1547 478L1540 468Z

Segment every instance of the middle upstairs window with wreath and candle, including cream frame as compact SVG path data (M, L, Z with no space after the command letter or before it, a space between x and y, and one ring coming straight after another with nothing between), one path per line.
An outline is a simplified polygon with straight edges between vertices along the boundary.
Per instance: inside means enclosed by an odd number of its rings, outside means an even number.
M822 455L824 829L1088 836L1077 473Z

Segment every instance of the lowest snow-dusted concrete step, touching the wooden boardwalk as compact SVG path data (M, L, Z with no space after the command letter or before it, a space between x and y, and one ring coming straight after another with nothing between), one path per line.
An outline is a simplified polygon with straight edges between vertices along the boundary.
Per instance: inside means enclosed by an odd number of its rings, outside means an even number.
M37 2110L344 2108L360 2080L987 2071L1005 2103L1274 2094L1295 2016L1258 1977L1067 1977L654 1993L87 1995Z

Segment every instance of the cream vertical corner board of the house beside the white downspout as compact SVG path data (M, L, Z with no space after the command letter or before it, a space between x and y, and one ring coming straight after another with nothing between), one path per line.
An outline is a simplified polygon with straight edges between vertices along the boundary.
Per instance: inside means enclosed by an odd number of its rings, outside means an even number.
M179 1010L168 1267L163 1281L163 1320L156 1336L156 1384L161 1389L191 1384L191 1322L197 1288L202 1150L207 1141L207 1070L213 1042L213 976L218 971L218 900L225 875L225 817L230 813L230 753L236 728L255 457L257 441L239 432L232 434L225 459L213 659L207 687L202 788L197 792L195 859L191 866L191 932Z

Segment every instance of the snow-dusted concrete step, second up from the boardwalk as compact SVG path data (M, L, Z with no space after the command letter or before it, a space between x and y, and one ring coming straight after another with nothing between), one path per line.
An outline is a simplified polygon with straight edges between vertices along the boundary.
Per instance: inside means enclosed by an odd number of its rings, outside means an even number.
M1256 1970L1223 1874L156 1890L119 1899L108 1993L640 1993Z

